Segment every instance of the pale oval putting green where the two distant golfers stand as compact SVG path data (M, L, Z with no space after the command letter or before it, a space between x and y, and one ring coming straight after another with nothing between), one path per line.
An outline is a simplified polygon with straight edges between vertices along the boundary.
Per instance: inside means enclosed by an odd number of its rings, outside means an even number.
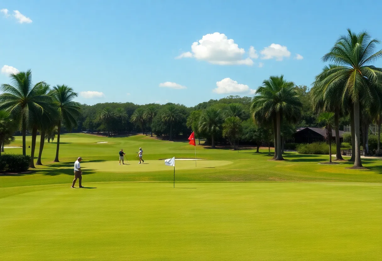
M198 160L196 162L192 160L176 160L175 170L181 169L206 169L217 168L220 166L231 164L232 161L223 160ZM171 166L166 166L164 160L145 160L144 163L139 164L138 160L129 160L129 165L125 160L125 165L119 161L99 161L99 162L81 162L81 168L86 172L87 169L92 171L102 172L141 172L141 171L172 171Z

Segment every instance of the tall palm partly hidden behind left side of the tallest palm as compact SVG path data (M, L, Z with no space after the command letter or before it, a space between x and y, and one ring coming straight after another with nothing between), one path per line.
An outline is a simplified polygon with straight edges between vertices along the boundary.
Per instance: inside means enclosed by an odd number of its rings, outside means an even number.
M320 74L316 79L320 78ZM321 84L322 82L316 81L313 83L311 90L311 97L313 98L313 106L316 113L321 111L334 111L334 129L335 129L335 143L336 143L336 158L335 160L343 160L341 155L341 141L340 141L340 114L342 113L342 96L341 93L338 93L339 90L345 86L345 82L339 82L340 85L337 90L337 93L326 92L328 89L326 85Z

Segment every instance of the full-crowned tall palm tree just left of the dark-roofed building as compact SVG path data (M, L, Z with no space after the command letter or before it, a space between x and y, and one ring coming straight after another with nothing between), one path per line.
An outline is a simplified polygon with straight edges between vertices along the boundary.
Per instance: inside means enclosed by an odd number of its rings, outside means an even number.
M255 116L264 118L259 121L266 122L273 118L277 132L277 156L275 160L283 160L281 121L285 118L290 122L296 122L301 116L302 103L295 84L286 81L283 75L269 77L257 89L251 108Z

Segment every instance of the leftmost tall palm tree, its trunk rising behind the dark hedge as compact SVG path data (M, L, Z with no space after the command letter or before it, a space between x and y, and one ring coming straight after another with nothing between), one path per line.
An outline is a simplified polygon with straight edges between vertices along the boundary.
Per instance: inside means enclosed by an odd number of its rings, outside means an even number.
M20 123L23 135L23 155L26 155L26 129L30 122L42 112L44 105L51 102L48 95L41 93L43 82L32 84L32 71L10 74L12 84L2 84L0 108L7 109Z

